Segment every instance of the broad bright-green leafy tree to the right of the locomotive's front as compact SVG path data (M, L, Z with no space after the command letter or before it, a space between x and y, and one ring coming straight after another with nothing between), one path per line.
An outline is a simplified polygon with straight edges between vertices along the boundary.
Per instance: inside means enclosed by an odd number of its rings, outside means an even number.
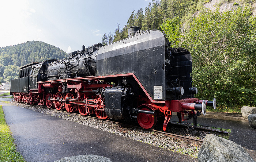
M234 12L205 8L193 19L180 45L192 53L198 97L221 107L256 105L256 18L249 7Z

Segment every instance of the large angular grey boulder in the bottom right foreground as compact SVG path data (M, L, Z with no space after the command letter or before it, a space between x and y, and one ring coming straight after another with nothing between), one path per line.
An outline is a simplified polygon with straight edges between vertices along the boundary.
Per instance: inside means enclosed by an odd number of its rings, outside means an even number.
M239 144L207 134L197 156L198 162L255 162Z

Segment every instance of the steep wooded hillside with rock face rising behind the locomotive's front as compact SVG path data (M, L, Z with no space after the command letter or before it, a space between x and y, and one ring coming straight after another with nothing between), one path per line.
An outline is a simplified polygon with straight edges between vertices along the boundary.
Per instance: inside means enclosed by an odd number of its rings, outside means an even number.
M153 0L132 11L113 41L128 38L128 28L165 31L172 47L192 54L198 98L216 97L218 109L239 112L256 106L256 0ZM208 6L208 8L206 8ZM112 35L105 35L105 44Z

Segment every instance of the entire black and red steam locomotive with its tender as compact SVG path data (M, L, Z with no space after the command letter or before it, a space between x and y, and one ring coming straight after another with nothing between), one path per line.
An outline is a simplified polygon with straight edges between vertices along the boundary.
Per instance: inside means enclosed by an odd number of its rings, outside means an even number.
M69 53L60 60L22 66L11 81L14 100L55 107L99 119L137 120L151 128L157 120L163 130L177 112L179 122L205 115L216 100L194 97L192 58L184 48L170 47L159 30L128 30L129 37ZM187 118L184 118L187 115Z

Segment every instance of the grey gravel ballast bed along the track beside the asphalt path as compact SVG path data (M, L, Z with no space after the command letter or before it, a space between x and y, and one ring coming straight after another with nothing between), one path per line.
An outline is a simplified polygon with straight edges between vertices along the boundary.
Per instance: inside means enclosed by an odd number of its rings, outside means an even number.
M73 122L76 122L79 124L83 124L85 126L97 128L99 130L110 132L110 133L113 133L116 135L124 136L129 139L138 140L140 142L148 143L148 144L151 144L151 145L154 145L157 147L162 147L162 148L172 150L172 151L175 151L178 153L190 155L192 157L197 157L197 154L201 147L200 144L189 143L185 140L166 137L165 135L157 134L155 132L150 132L150 131L143 130L143 129L125 128L125 127L121 127L120 125L117 125L117 124L104 122L102 120L90 119L86 116L79 116L79 115L74 115L74 114L65 113L65 112L61 112L61 111L56 111L53 109L42 108L42 107L38 107L38 106L34 106L34 105L17 103L15 101L11 101L10 103L17 105L19 107L24 107L27 109L31 109L33 111L41 112L41 113L48 114L51 116L59 117L61 119L65 119L65 120L73 121ZM169 129L172 129L172 128L169 128ZM204 136L208 132L205 132L205 133L200 132L199 136L193 136L193 133L190 132L190 134L188 134L188 132L178 128L178 131L175 130L174 133L183 135L183 136L189 136L192 138L204 139ZM196 131L194 131L194 133L196 133Z

